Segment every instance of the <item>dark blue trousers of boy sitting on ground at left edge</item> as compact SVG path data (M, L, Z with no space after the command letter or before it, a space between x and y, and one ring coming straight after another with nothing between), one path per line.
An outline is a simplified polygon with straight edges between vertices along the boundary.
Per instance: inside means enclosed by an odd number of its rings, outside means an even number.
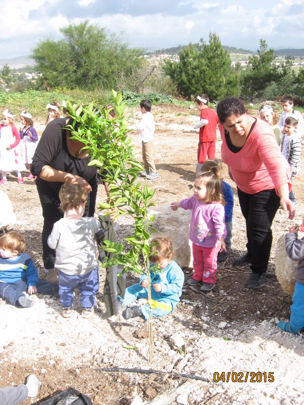
M37 282L37 292L40 294L53 295L54 284L39 278ZM19 280L9 284L8 282L0 282L0 295L2 298L8 300L12 305L16 306L17 300L24 296L23 292L27 291L27 282Z

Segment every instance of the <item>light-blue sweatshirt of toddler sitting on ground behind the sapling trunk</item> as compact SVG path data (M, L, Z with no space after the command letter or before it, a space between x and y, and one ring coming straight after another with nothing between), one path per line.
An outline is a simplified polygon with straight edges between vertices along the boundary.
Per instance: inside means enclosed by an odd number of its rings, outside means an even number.
M150 263L150 268L153 266L155 265ZM184 273L179 265L171 260L168 266L162 269L161 272L155 273L153 270L150 270L149 275L151 284L162 285L161 292L155 291L153 287L151 288L151 298L155 301L158 301L160 298L171 300L172 306L175 308L179 302L179 297L181 296L181 289L184 282ZM139 284L141 284L141 281L146 278L147 276L142 274Z

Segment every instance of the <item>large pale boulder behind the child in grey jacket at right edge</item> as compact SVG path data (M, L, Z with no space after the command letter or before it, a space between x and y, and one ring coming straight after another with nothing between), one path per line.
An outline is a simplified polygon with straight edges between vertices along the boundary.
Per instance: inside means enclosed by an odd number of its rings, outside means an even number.
M285 235L281 236L277 243L276 256L276 276L284 293L291 297L295 285L295 271L297 262L289 259L285 251Z

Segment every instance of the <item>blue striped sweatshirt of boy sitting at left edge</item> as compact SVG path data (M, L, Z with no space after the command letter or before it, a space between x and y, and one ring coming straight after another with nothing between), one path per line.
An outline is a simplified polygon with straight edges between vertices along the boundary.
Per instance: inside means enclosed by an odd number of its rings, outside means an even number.
M13 284L20 280L26 281L28 287L36 287L38 272L32 259L26 253L21 253L16 259L0 256L0 282Z

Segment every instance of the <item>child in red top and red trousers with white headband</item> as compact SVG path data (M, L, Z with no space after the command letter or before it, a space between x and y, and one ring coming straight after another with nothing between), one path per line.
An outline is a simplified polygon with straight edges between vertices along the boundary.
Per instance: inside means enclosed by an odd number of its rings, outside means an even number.
M195 99L197 109L201 112L201 119L194 128L200 129L198 145L198 164L196 175L200 173L207 156L209 159L215 158L216 127L218 117L215 111L208 107L209 97L206 94L199 94Z

